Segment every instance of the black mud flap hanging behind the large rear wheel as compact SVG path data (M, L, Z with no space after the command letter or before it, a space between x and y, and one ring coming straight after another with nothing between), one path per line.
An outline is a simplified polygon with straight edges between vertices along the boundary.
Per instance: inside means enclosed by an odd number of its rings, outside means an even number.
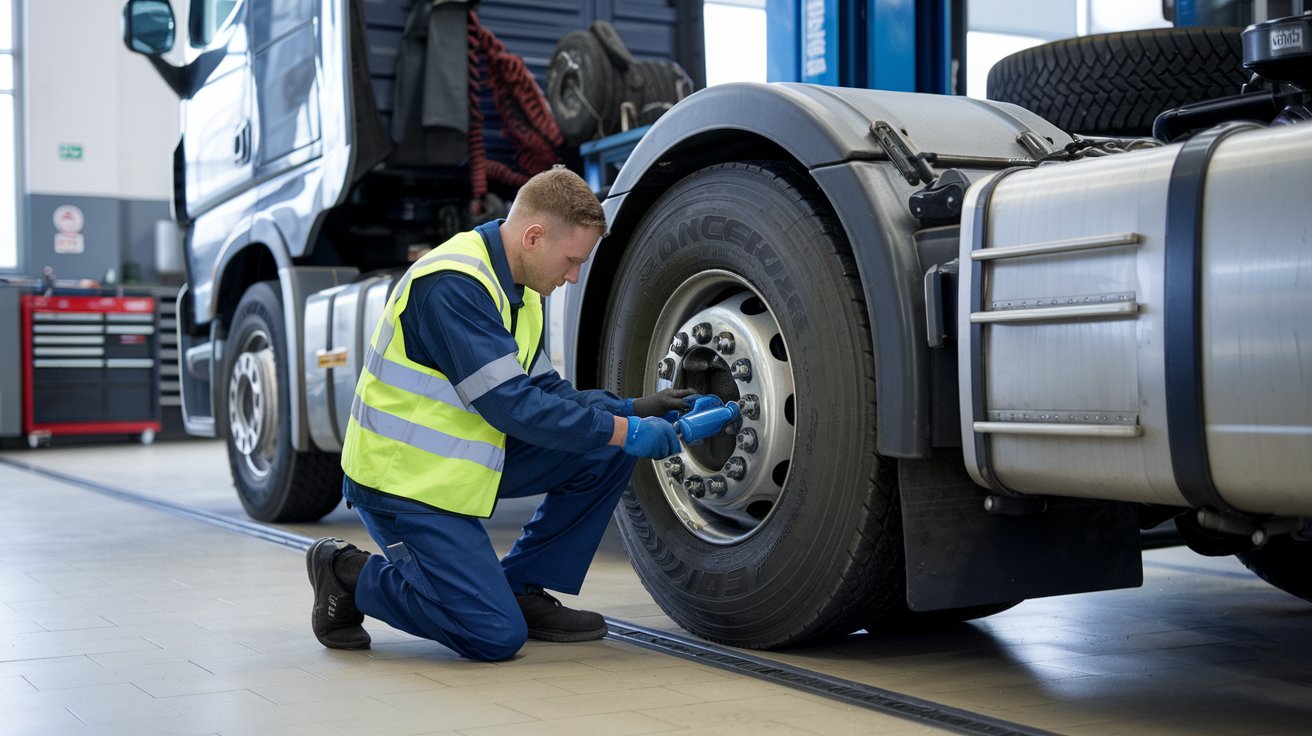
M1143 585L1131 504L1047 496L1042 510L988 513L960 450L897 464L914 611Z

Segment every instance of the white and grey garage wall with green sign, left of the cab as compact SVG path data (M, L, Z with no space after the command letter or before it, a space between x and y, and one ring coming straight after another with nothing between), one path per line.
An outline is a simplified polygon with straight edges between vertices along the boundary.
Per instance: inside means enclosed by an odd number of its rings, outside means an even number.
M142 281L159 281L155 223L169 219L177 97L123 47L121 9L115 0L24 4L20 260L33 276L49 265L59 278L100 279L112 268L122 278L133 262ZM66 205L77 207L83 227L63 234L56 252L54 218ZM64 222L76 224L76 216Z

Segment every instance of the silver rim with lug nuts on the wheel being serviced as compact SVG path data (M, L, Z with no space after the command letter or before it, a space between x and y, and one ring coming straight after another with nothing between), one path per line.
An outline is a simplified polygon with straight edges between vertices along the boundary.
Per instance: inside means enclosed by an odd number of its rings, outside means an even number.
M694 388L743 408L724 433L656 471L693 534L716 544L749 537L778 505L792 457L792 369L778 320L737 274L703 272L670 295L648 354L646 388Z

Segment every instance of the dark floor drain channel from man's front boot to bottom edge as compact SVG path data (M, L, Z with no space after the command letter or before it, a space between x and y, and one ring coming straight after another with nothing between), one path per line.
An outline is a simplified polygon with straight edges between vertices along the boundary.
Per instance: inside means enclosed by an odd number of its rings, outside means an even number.
M756 657L705 642L672 636L615 619L606 619L607 639L626 642L647 649L664 652L701 664L718 666L739 674L757 677L802 690L813 695L833 698L845 703L884 712L956 733L988 736L1052 736L1051 731L1033 728L987 715L954 708L932 701L922 701L872 685L829 677L764 657Z

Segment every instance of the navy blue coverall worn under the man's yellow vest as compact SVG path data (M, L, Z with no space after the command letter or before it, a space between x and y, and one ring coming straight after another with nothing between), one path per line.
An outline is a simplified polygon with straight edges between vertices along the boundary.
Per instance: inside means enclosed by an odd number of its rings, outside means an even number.
M501 222L476 231L512 308L518 308L523 287L510 278ZM416 279L400 323L405 356L457 384L517 350L487 290L459 273ZM527 628L514 594L526 585L579 593L636 462L607 445L613 417L632 413L631 400L577 391L551 369L541 346L531 365L531 375L505 380L474 400L483 419L506 434L497 497L546 495L504 559L497 559L478 518L390 496L350 478L342 484L348 504L386 552L373 555L361 571L357 607L476 660L506 659L523 645Z

